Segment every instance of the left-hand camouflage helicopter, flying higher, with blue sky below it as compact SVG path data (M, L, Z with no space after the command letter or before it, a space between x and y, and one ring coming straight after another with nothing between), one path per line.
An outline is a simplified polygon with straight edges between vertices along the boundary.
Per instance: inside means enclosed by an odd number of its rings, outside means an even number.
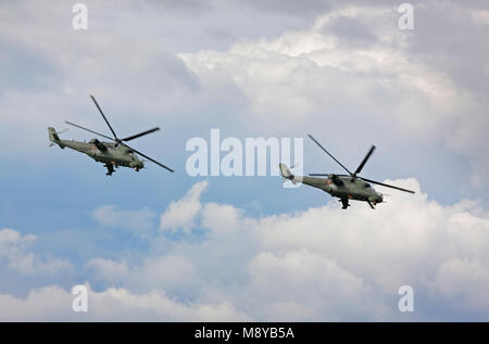
M80 142L80 141L75 141L75 140L61 140L59 137L59 133L61 133L62 131L57 132L54 130L54 128L49 127L48 133L49 133L49 140L51 141L50 146L58 144L62 149L67 146L72 150L87 154L88 156L93 158L96 162L105 164L105 167L108 169L108 173L106 173L108 176L111 176L114 173L114 167L115 168L117 168L120 166L129 167L129 168L134 168L136 171L139 171L139 169L143 168L145 162L142 160L138 158L138 156L136 154L139 154L139 155L146 157L147 160L153 162L154 164L160 165L161 167L173 173L172 168L156 162L155 160L142 154L141 152L139 152L139 151L135 150L134 148L130 148L129 145L124 143L124 142L140 138L141 136L158 131L158 130L160 130L160 128L155 127L155 128L129 136L127 138L120 139L115 135L114 129L112 129L111 125L109 124L109 120L106 119L105 115L103 114L102 110L100 109L100 106L97 103L93 95L90 95L90 98L93 101L93 103L96 104L97 109L99 110L99 112L102 115L103 119L105 120L106 125L109 126L109 129L111 130L114 138L111 138L103 133L99 133L97 131L84 128L84 127L76 125L74 123L71 123L71 122L66 122L66 124L77 127L79 129L87 130L91 133L96 133L102 138L112 140L113 142L101 142L98 139L91 139L89 142L85 142L85 141Z

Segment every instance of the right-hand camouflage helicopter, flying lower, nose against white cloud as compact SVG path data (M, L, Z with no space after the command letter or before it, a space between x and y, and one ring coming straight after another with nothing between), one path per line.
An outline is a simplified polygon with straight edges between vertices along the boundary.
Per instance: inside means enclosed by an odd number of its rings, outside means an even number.
M374 190L371 187L371 183L379 184L387 188L392 188L410 193L414 193L414 191L402 189L394 186L389 186L379 181L366 179L358 176L362 170L363 166L371 157L372 153L374 153L375 145L372 145L368 153L363 158L362 163L359 165L354 173L351 173L347 167L344 167L335 156L333 156L326 149L321 145L311 135L309 135L311 140L314 141L323 151L325 151L338 165L340 165L348 175L335 175L335 174L310 174L308 176L294 176L290 171L290 169L285 164L279 164L281 176L285 179L289 179L292 183L302 182L304 184L321 189L326 191L334 198L339 198L339 202L342 203L342 209L346 209L350 206L349 200L363 201L367 202L368 205L375 209L375 205L377 203L384 202L384 195ZM317 178L317 177L327 177L327 178Z

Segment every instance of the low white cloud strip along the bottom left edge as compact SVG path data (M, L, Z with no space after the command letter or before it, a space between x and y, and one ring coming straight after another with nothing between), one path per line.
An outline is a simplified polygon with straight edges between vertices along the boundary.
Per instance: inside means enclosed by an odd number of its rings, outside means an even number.
M110 288L88 291L88 311L75 313L75 295L57 285L33 290L26 298L0 294L0 321L247 321L250 318L226 303L184 304L163 292L130 293Z

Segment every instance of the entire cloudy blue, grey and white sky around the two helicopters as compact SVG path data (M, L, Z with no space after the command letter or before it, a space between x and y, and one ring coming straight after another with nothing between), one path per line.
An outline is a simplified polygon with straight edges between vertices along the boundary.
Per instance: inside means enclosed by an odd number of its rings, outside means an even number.
M422 1L0 4L0 320L489 320L489 5ZM155 165L49 148L64 120ZM406 187L343 212L279 177L190 177L193 137L304 138L306 173ZM71 128L61 135L91 139ZM89 289L74 313L71 290ZM398 290L414 290L400 313Z

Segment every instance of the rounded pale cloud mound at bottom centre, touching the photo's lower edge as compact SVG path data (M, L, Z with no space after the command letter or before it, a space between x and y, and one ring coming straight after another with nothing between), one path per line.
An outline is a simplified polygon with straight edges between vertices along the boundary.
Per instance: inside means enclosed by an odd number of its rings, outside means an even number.
M336 262L306 250L285 255L260 253L250 263L249 272L253 305L262 304L262 316L266 319L338 321L353 319L365 311L368 295L362 279ZM289 308L287 303L296 306Z

